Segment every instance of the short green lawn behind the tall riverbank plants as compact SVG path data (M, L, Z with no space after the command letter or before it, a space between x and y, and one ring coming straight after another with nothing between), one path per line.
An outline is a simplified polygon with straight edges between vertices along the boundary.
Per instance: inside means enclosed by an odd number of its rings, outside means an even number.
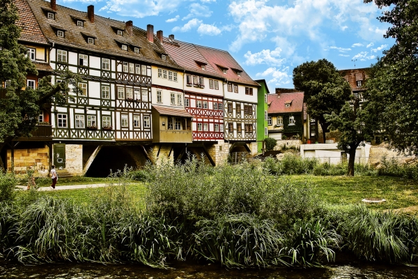
M384 198L382 204L367 204L373 209L400 209L418 205L418 183L416 181L389 176L284 176L294 182L308 181L318 193L320 199L330 205L363 204L366 197ZM75 177L62 179L59 185L106 183L105 179ZM297 183L296 183L297 184ZM137 202L143 203L146 187L144 183L135 182L127 188ZM73 199L75 202L91 202L93 189L75 189L43 192L42 195L53 195Z

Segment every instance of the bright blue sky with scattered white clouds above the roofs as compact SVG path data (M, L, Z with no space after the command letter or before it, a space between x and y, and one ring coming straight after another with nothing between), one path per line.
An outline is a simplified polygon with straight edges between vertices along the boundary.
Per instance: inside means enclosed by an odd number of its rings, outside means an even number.
M87 10L178 40L228 50L254 79L293 88L293 68L327 59L336 68L364 68L394 44L379 10L363 0L64 0Z

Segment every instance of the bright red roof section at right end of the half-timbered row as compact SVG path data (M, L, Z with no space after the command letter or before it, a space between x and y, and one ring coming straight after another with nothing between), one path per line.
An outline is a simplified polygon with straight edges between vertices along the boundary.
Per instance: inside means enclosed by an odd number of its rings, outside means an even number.
M260 86L257 82L254 82L254 80L252 80L247 73L245 73L245 70L242 69L240 64L238 64L235 59L233 59L233 56L231 56L229 52L210 47L202 47L200 45L196 45L196 49L199 50L201 55L205 57L217 73L229 82L239 82L253 86ZM226 74L222 72L223 69L227 69ZM237 72L241 72L241 75L237 75Z

